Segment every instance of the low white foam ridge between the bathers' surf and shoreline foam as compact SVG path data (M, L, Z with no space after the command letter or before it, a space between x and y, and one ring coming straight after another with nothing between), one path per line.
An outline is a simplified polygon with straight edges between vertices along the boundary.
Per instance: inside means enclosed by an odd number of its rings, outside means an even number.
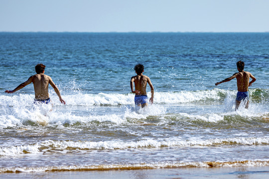
M33 145L0 147L0 156L13 156L25 153L37 154L48 149L64 151L67 148L102 150L102 149L129 149L129 148L160 148L160 147L197 147L216 145L268 145L269 138L266 137L235 137L216 138L208 140L182 140L180 138L169 138L166 140L147 139L140 141L52 141L46 140Z

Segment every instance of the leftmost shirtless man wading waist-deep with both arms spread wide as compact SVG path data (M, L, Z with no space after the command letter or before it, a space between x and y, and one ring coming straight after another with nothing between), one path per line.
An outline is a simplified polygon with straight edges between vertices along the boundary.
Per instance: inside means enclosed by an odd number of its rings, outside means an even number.
M46 66L43 64L37 64L35 66L36 75L31 76L26 82L20 84L14 90L6 90L4 92L13 93L19 89L24 88L26 85L33 83L34 94L35 94L34 103L41 102L41 103L48 104L50 102L49 93L48 93L48 84L50 84L52 88L55 90L56 94L58 95L61 103L65 104L65 101L62 99L59 89L53 83L52 79L49 76L44 75L45 67Z

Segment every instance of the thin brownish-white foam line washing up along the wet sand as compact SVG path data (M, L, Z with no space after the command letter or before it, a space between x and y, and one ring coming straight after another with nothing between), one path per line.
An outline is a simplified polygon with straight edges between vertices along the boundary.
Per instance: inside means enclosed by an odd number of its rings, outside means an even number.
M10 172L45 172L45 171L107 171L107 170L137 170L137 169L159 169L179 167L263 167L269 166L268 160L255 161L228 161L228 162L158 162L142 164L103 164L103 165L62 165L53 167L8 167L0 168L0 173Z

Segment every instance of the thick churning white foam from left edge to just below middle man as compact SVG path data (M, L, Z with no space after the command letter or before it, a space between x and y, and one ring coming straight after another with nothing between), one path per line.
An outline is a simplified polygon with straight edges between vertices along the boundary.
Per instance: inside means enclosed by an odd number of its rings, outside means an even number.
M22 95L25 96L25 95ZM19 96L15 96L17 99ZM30 96L28 95L29 99ZM100 101L100 100L99 100ZM11 101L12 102L12 101ZM13 101L14 102L14 101ZM32 104L32 101L31 101ZM66 106L63 106L66 107ZM83 111L83 115L75 115L72 111L57 111L52 109L51 105L40 104L40 105L18 105L5 107L0 116L0 128L15 127L24 125L25 122L31 121L39 125L64 125L74 124L76 122L89 123L92 121L98 122L112 122L115 124L121 124L126 122L127 119L144 119L149 115L159 115L165 113L165 108L158 105L148 105L145 108L136 108L134 106L124 106L120 109L121 113L112 114L87 114Z

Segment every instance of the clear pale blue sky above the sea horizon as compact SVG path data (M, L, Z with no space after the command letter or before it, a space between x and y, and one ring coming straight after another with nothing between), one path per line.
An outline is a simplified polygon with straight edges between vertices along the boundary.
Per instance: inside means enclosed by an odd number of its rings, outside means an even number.
M0 0L0 31L269 32L269 0Z

